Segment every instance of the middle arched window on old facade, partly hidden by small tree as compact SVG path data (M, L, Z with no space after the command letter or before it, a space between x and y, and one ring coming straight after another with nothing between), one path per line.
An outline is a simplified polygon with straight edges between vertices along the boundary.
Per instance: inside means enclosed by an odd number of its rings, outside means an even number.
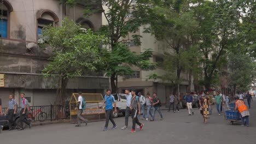
M42 34L43 27L56 26L59 22L58 16L51 10L39 10L37 12L37 37Z

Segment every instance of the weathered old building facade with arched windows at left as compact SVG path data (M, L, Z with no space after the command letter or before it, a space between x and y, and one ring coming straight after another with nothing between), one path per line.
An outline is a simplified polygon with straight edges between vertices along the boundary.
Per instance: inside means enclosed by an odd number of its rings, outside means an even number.
M10 93L18 99L22 92L31 106L54 104L56 80L42 76L51 52L40 49L38 35L45 25L61 26L66 16L84 28L100 28L102 14L98 12L85 18L83 8L82 4L68 7L57 0L0 0L0 74L4 75L0 98L3 107L7 106ZM66 97L78 91L102 93L108 87L108 79L103 76L77 77L68 82Z

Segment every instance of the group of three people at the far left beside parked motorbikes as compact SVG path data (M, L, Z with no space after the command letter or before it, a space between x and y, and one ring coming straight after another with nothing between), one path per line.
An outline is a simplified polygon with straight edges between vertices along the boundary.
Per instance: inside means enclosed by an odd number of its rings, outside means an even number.
M31 128L31 122L26 119L26 113L28 111L28 101L25 98L25 93L20 94L21 97L21 110L20 110L20 122L19 124L19 129L18 130L24 130L24 125L23 123L26 123L29 128ZM17 126L17 124L14 122L14 117L17 112L17 102L13 97L13 94L9 95L9 101L8 101L8 107L7 110L4 112L4 115L8 116L8 124L9 124L9 130L14 130L14 128ZM0 115L3 116L2 112L2 100L0 99ZM3 125L0 125L0 132L3 130Z

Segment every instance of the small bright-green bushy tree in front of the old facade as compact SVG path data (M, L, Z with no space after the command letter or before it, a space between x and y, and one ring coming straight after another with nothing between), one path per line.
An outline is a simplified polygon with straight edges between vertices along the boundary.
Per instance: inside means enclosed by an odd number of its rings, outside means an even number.
M80 26L68 19L62 22L61 27L45 28L41 38L45 41L42 46L53 50L53 57L43 74L45 77L59 77L56 103L61 104L68 80L96 70L95 65L101 63L98 47L106 39L104 35L91 31L84 33Z

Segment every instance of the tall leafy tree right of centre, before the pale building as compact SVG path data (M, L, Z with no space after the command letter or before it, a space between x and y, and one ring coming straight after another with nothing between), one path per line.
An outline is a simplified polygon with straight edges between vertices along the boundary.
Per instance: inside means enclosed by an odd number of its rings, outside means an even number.
M188 57L186 51L196 45L194 33L198 28L198 23L193 11L189 9L189 1L162 1L160 5L154 7L154 12L159 19L152 21L147 31L155 34L159 40L164 40L168 48L174 50L174 56L166 56L163 65L167 74L162 78L172 83L173 93L176 93L179 83L184 81L181 79L182 70L188 70L190 78L188 91L190 91L193 68L190 68L188 63L189 61L195 62L197 59L192 56ZM195 59L191 61L191 58Z

